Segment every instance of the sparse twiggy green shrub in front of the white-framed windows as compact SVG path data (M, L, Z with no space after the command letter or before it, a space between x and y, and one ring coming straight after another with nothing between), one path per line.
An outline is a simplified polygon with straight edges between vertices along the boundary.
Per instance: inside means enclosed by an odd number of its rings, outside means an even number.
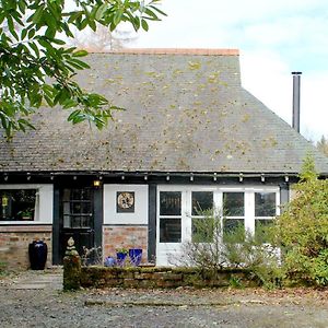
M271 288L280 283L277 248L262 243L273 239L270 226L258 229L261 233L256 236L245 232L244 225L224 232L222 215L213 211L204 211L202 215L203 219L194 222L197 227L191 241L183 245L181 265L199 268L212 279L224 267L246 268L260 284Z

